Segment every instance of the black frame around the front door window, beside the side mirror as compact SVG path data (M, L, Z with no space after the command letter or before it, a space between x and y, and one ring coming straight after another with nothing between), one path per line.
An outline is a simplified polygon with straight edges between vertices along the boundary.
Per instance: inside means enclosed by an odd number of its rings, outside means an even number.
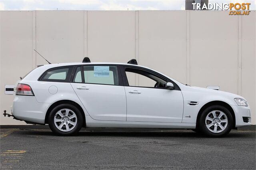
M157 73L155 71L152 71L150 69L147 69L147 68L144 68L144 67L139 67L139 66L132 66L132 65L122 65L121 67L121 73L122 73L122 77L123 77L123 81L124 81L124 86L125 87L141 87L141 88L150 88L150 89L165 89L165 90L170 90L170 89L167 89L165 87L144 87L144 86L130 86L129 83L128 83L128 79L127 79L127 76L126 76L126 73L125 73L125 69L126 68L130 68L130 69L138 69L138 70L141 70L141 71L146 71L148 73L151 73L152 75L160 78L160 79L163 79L163 80L166 80L166 82L171 82L173 83L174 85L174 89L172 90L178 90L180 91L180 87L174 83L174 81L168 79L167 77L161 75L160 73Z

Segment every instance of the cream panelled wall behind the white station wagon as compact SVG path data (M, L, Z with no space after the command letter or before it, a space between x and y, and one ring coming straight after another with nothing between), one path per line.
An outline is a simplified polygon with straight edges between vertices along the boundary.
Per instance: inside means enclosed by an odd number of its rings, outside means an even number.
M36 49L52 63L136 58L182 83L218 85L249 101L255 124L255 23L256 11L0 11L0 113L10 113L13 99L4 85L46 64Z

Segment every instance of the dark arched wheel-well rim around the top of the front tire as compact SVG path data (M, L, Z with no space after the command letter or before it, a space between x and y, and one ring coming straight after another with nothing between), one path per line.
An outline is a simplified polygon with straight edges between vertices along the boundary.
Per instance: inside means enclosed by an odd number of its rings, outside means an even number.
M196 128L199 125L200 115L202 114L204 109L206 109L207 107L210 107L212 105L220 105L220 106L226 107L230 111L230 113L232 114L232 117L233 117L233 120L234 120L234 125L233 125L232 128L236 127L236 116L235 116L235 113L234 113L234 110L232 109L232 107L224 101L210 101L210 102L206 103L205 105L203 105L201 107L201 109L199 110L199 112L197 114L197 117L196 117Z

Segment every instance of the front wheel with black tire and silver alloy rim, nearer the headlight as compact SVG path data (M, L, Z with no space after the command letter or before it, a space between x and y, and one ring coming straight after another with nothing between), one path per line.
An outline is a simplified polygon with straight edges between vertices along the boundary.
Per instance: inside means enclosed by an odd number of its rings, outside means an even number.
M213 105L204 109L200 115L198 127L209 137L222 137L230 132L233 124L233 116L226 107Z

